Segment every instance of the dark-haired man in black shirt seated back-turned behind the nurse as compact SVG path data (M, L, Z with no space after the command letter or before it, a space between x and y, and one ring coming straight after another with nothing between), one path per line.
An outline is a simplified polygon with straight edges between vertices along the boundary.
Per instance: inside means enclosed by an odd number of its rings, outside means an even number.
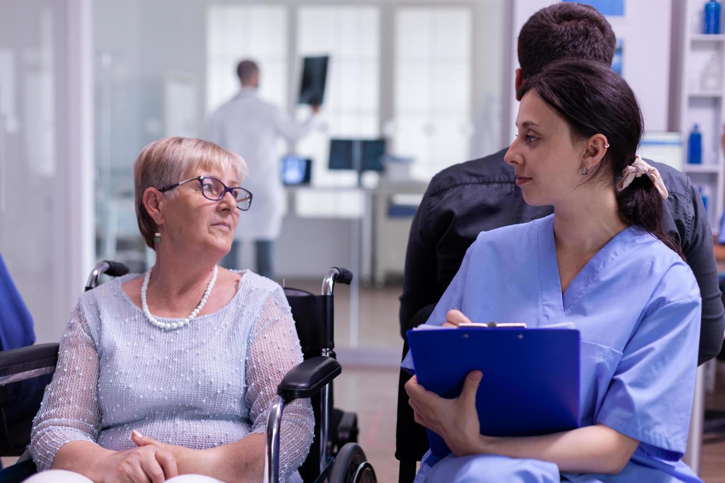
M560 3L539 10L518 36L521 69L516 70L516 90L526 77L558 59L574 57L609 65L615 44L611 26L592 7ZM413 219L405 257L400 297L400 333L404 340L408 329L426 322L479 232L552 213L550 206L529 206L523 201L513 167L503 161L507 149L444 169L428 185ZM670 193L663 201L663 229L679 243L700 286L703 312L698 363L703 364L719 352L725 329L711 228L700 195L689 178L664 164L648 162L657 167ZM512 256L514 245L512 240ZM403 356L405 353L407 342ZM410 461L420 461L428 450L425 429L413 421L413 410L407 404L403 386L408 379L410 376L401 371L395 452L401 461L401 481L415 472Z

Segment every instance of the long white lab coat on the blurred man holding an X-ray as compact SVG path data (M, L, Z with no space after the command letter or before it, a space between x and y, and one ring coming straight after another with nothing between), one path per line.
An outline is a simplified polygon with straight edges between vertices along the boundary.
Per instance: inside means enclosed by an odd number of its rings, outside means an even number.
M252 192L252 206L240 213L236 240L278 238L285 197L277 139L281 136L294 142L302 138L310 131L311 121L295 122L282 109L263 101L254 88L241 88L213 114L211 140L239 154L249 168L241 184Z

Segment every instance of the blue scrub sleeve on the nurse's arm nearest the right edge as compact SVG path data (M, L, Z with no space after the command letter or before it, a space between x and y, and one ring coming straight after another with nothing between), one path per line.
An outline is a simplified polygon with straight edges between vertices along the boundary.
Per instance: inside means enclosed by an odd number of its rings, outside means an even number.
M695 393L701 300L650 300L655 308L625 346L597 422L638 440L656 458L678 461Z

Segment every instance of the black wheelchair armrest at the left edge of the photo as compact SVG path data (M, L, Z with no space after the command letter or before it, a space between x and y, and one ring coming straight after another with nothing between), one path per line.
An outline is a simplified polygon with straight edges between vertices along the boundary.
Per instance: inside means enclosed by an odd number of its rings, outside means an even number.
M51 374L58 362L58 346L28 345L0 352L0 385Z

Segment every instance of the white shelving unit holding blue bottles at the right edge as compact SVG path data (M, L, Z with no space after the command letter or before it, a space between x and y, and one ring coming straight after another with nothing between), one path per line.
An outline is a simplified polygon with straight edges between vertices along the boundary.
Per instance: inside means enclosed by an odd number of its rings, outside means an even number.
M725 121L725 34L702 33L704 6L703 0L673 1L673 95L669 125L671 130L682 133L684 172L694 185L702 188L707 198L708 220L716 233L725 209L725 156L721 147ZM703 89L703 72L713 60L719 65L718 88ZM703 164L687 164L687 140L695 124L702 133Z

